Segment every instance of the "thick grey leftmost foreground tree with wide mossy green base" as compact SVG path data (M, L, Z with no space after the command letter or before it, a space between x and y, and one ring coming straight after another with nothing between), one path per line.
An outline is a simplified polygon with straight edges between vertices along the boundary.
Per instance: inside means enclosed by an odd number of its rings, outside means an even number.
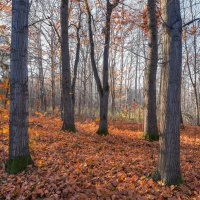
M28 15L29 0L12 1L10 65L10 133L8 173L32 164L28 137Z

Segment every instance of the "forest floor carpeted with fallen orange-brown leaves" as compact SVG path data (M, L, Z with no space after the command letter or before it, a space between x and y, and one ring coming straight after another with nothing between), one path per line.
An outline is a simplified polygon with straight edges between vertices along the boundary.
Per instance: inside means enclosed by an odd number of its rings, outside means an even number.
M8 124L1 125L7 158ZM78 132L71 134L60 130L58 118L31 117L30 151L36 166L8 175L0 165L0 199L200 199L200 127L182 129L184 184L167 187L148 178L157 163L158 142L142 140L140 125L112 122L106 137L95 134L97 122L76 126ZM1 140L0 163L3 149Z

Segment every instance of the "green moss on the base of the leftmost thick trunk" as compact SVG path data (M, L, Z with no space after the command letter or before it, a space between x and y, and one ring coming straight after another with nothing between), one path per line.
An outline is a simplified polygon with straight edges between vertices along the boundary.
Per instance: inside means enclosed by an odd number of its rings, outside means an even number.
M6 172L9 174L18 174L25 170L28 165L33 164L33 160L30 155L23 157L16 157L15 159L8 160L6 163Z

